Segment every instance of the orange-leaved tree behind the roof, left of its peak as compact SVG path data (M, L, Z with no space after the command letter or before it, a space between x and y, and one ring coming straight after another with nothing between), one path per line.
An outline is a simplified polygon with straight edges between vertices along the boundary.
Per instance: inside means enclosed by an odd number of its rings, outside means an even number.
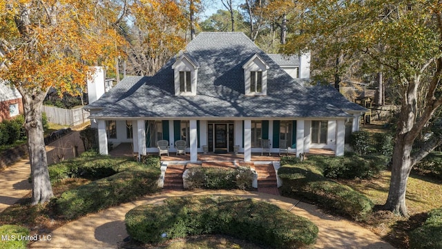
M128 72L154 75L186 45L188 19L180 3L173 0L145 0L131 4L133 24L128 26Z

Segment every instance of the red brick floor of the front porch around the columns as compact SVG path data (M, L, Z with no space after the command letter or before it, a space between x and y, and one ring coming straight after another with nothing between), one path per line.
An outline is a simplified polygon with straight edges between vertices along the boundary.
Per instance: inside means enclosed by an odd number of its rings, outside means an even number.
M135 156L133 149L133 145L129 142L122 142L117 147L115 147L113 150L109 152L111 156L128 156L133 157ZM148 153L149 155L157 155L157 152L151 152ZM281 156L284 156L285 154L281 154ZM307 157L310 155L325 155L325 156L334 156L335 151L332 149L310 149L308 153L306 153ZM289 154L289 156L296 156L296 154ZM177 155L175 152L171 152L170 156L162 155L161 159L163 161L190 161L191 156L189 153L187 153L185 156L180 154ZM251 161L279 161L280 156L278 153L271 153L271 156L263 155L261 156L260 153L252 153L251 154ZM237 161L237 162L244 162L244 154L238 153L227 153L227 154L215 154L213 152L208 152L207 154L204 153L198 153L198 161L201 162L210 162L210 161Z

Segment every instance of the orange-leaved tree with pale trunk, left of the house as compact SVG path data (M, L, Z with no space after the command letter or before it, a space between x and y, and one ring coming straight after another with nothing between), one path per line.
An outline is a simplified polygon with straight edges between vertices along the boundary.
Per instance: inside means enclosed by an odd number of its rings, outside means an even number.
M105 0L0 0L0 79L23 96L32 205L53 195L41 123L46 93L78 93L92 73L88 66L119 55L119 7Z

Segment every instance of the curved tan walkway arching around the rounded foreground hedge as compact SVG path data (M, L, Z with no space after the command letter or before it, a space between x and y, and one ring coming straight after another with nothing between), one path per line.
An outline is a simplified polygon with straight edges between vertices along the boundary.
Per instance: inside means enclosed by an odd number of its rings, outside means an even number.
M128 236L124 226L126 212L143 204L160 204L172 196L185 195L236 195L253 198L278 205L294 214L304 216L314 222L319 228L318 240L314 248L365 248L381 249L394 248L382 241L373 232L349 222L320 212L314 205L302 203L294 199L271 194L244 191L201 190L197 192L170 191L145 196L140 201L124 203L117 207L108 208L97 214L90 214L81 219L68 223L50 233L50 241L37 241L31 248L118 248L123 239Z

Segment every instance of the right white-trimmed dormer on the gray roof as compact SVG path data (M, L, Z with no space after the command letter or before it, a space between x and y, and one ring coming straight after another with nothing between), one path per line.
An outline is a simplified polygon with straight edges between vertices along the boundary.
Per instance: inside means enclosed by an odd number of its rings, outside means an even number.
M258 55L253 55L244 69L244 93L248 96L267 95L267 71L269 66Z

